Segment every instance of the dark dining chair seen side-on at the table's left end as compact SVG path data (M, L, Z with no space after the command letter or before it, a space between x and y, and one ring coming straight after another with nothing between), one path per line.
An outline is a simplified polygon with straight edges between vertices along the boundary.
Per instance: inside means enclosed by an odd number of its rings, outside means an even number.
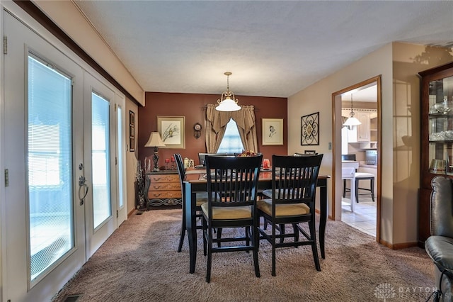
M179 244L178 244L178 252L180 252L183 249L183 242L184 242L184 237L185 237L185 231L187 230L185 226L185 186L183 184L183 181L185 179L185 168L184 168L184 162L183 162L183 157L181 157L180 154L176 153L173 155L176 160L176 166L178 167L178 174L179 174L179 180L181 184L181 196L182 196L182 206L183 206L183 217L181 219L181 232L179 236ZM197 193L196 199L195 199L195 209L197 213L195 214L196 219L200 219L201 221L201 205L203 203L207 203L207 192L204 193ZM197 225L197 229L201 229L202 225Z

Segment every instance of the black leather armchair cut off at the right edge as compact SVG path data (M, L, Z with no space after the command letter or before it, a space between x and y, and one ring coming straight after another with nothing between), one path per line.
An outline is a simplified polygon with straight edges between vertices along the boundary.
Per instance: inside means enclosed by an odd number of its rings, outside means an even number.
M453 179L431 181L430 232L425 250L435 264L434 301L453 301Z

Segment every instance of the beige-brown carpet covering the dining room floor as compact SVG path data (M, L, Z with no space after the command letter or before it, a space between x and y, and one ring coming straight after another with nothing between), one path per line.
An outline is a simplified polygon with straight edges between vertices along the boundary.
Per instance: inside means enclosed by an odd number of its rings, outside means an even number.
M425 251L389 250L340 221L328 221L326 259L317 272L311 247L271 250L261 241L261 277L251 253L212 257L211 283L198 230L197 266L189 274L187 238L176 252L180 209L131 216L52 301L81 294L78 301L425 301L434 284ZM320 255L321 257L321 255Z

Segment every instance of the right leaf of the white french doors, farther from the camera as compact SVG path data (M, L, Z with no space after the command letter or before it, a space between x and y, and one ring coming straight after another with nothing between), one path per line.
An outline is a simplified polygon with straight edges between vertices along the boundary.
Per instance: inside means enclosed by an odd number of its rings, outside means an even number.
M84 73L86 258L117 228L115 200L115 92ZM112 169L112 167L114 167Z

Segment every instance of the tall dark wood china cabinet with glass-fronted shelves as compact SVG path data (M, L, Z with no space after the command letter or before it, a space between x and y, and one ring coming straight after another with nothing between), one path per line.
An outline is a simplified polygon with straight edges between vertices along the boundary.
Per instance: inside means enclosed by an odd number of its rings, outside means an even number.
M431 180L437 175L453 177L453 63L419 73L420 191L418 201L418 245L430 236Z

